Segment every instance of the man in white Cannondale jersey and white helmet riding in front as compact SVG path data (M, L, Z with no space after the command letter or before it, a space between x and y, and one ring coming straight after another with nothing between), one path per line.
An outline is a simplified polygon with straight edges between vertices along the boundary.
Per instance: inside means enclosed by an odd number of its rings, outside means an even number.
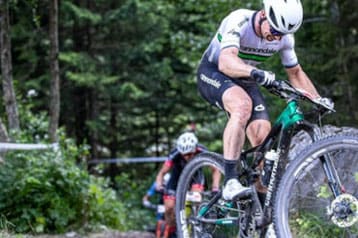
M237 199L251 193L237 180L237 160L245 141L259 145L271 129L259 85L270 87L275 74L256 66L275 53L291 84L314 100L320 97L300 66L294 36L303 20L299 0L264 0L263 9L238 9L226 16L211 40L197 71L201 96L225 110L229 119L223 133L225 181L223 198Z

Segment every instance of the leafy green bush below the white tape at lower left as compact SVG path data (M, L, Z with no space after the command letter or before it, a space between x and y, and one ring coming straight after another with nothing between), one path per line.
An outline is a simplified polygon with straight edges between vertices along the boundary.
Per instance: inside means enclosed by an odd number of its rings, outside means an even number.
M108 181L75 164L84 150L62 140L61 152L8 153L0 167L0 228L19 233L125 229L124 207Z

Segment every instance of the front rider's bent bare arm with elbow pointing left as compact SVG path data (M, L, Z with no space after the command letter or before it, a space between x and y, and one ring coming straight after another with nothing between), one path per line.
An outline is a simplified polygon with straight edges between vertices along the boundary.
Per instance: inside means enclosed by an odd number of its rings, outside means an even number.
M235 46L224 48L219 55L219 70L231 78L250 77L255 67L237 57L239 49Z

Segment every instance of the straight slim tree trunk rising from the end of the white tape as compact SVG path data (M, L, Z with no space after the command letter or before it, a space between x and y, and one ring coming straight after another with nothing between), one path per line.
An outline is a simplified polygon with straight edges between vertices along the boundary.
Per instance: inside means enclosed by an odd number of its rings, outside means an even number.
M56 142L58 122L60 117L60 69L58 65L58 1L50 1L50 72L51 99L49 135L52 142Z

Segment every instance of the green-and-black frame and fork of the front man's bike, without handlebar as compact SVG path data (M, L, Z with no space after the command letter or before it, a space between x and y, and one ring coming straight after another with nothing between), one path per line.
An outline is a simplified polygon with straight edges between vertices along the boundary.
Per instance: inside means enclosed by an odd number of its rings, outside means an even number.
M271 204L272 204L272 194L276 188L276 181L277 181L277 172L279 168L282 170L288 163L287 155L289 152L289 146L291 143L291 138L293 135L298 131L305 131L307 132L312 141L316 141L321 138L321 132L317 126L311 124L310 122L304 119L304 115L300 110L300 107L297 103L297 100L291 98L288 100L287 106L278 116L277 120L272 126L268 136L263 141L262 144L248 149L241 154L241 163L244 170L244 173L251 176L252 180L257 178L257 173L255 173L256 168L264 159L264 154L266 151L275 147L275 150L279 153L279 159L275 161L270 180L268 185L268 192L266 194L266 199L264 202L263 207L260 208L262 214L260 218L257 220L258 227L265 227L272 221L271 217ZM276 143L276 144L275 144ZM247 158L252 157L253 160L249 161ZM326 176L330 183L330 187L332 191L337 191L337 183L335 181L339 181L337 179L336 172L334 167L332 166L329 158L321 158L322 166L326 173ZM282 172L281 170L281 172ZM334 192L335 193L335 192ZM335 193L336 194L336 193ZM338 193L337 193L338 194ZM202 222L212 223L217 225L235 225L237 224L237 219L235 218L222 218L222 219L206 219L204 218L205 214L210 210L210 208L221 198L221 192L216 194L207 206L200 209L198 213L197 219ZM257 199L258 200L258 199Z

